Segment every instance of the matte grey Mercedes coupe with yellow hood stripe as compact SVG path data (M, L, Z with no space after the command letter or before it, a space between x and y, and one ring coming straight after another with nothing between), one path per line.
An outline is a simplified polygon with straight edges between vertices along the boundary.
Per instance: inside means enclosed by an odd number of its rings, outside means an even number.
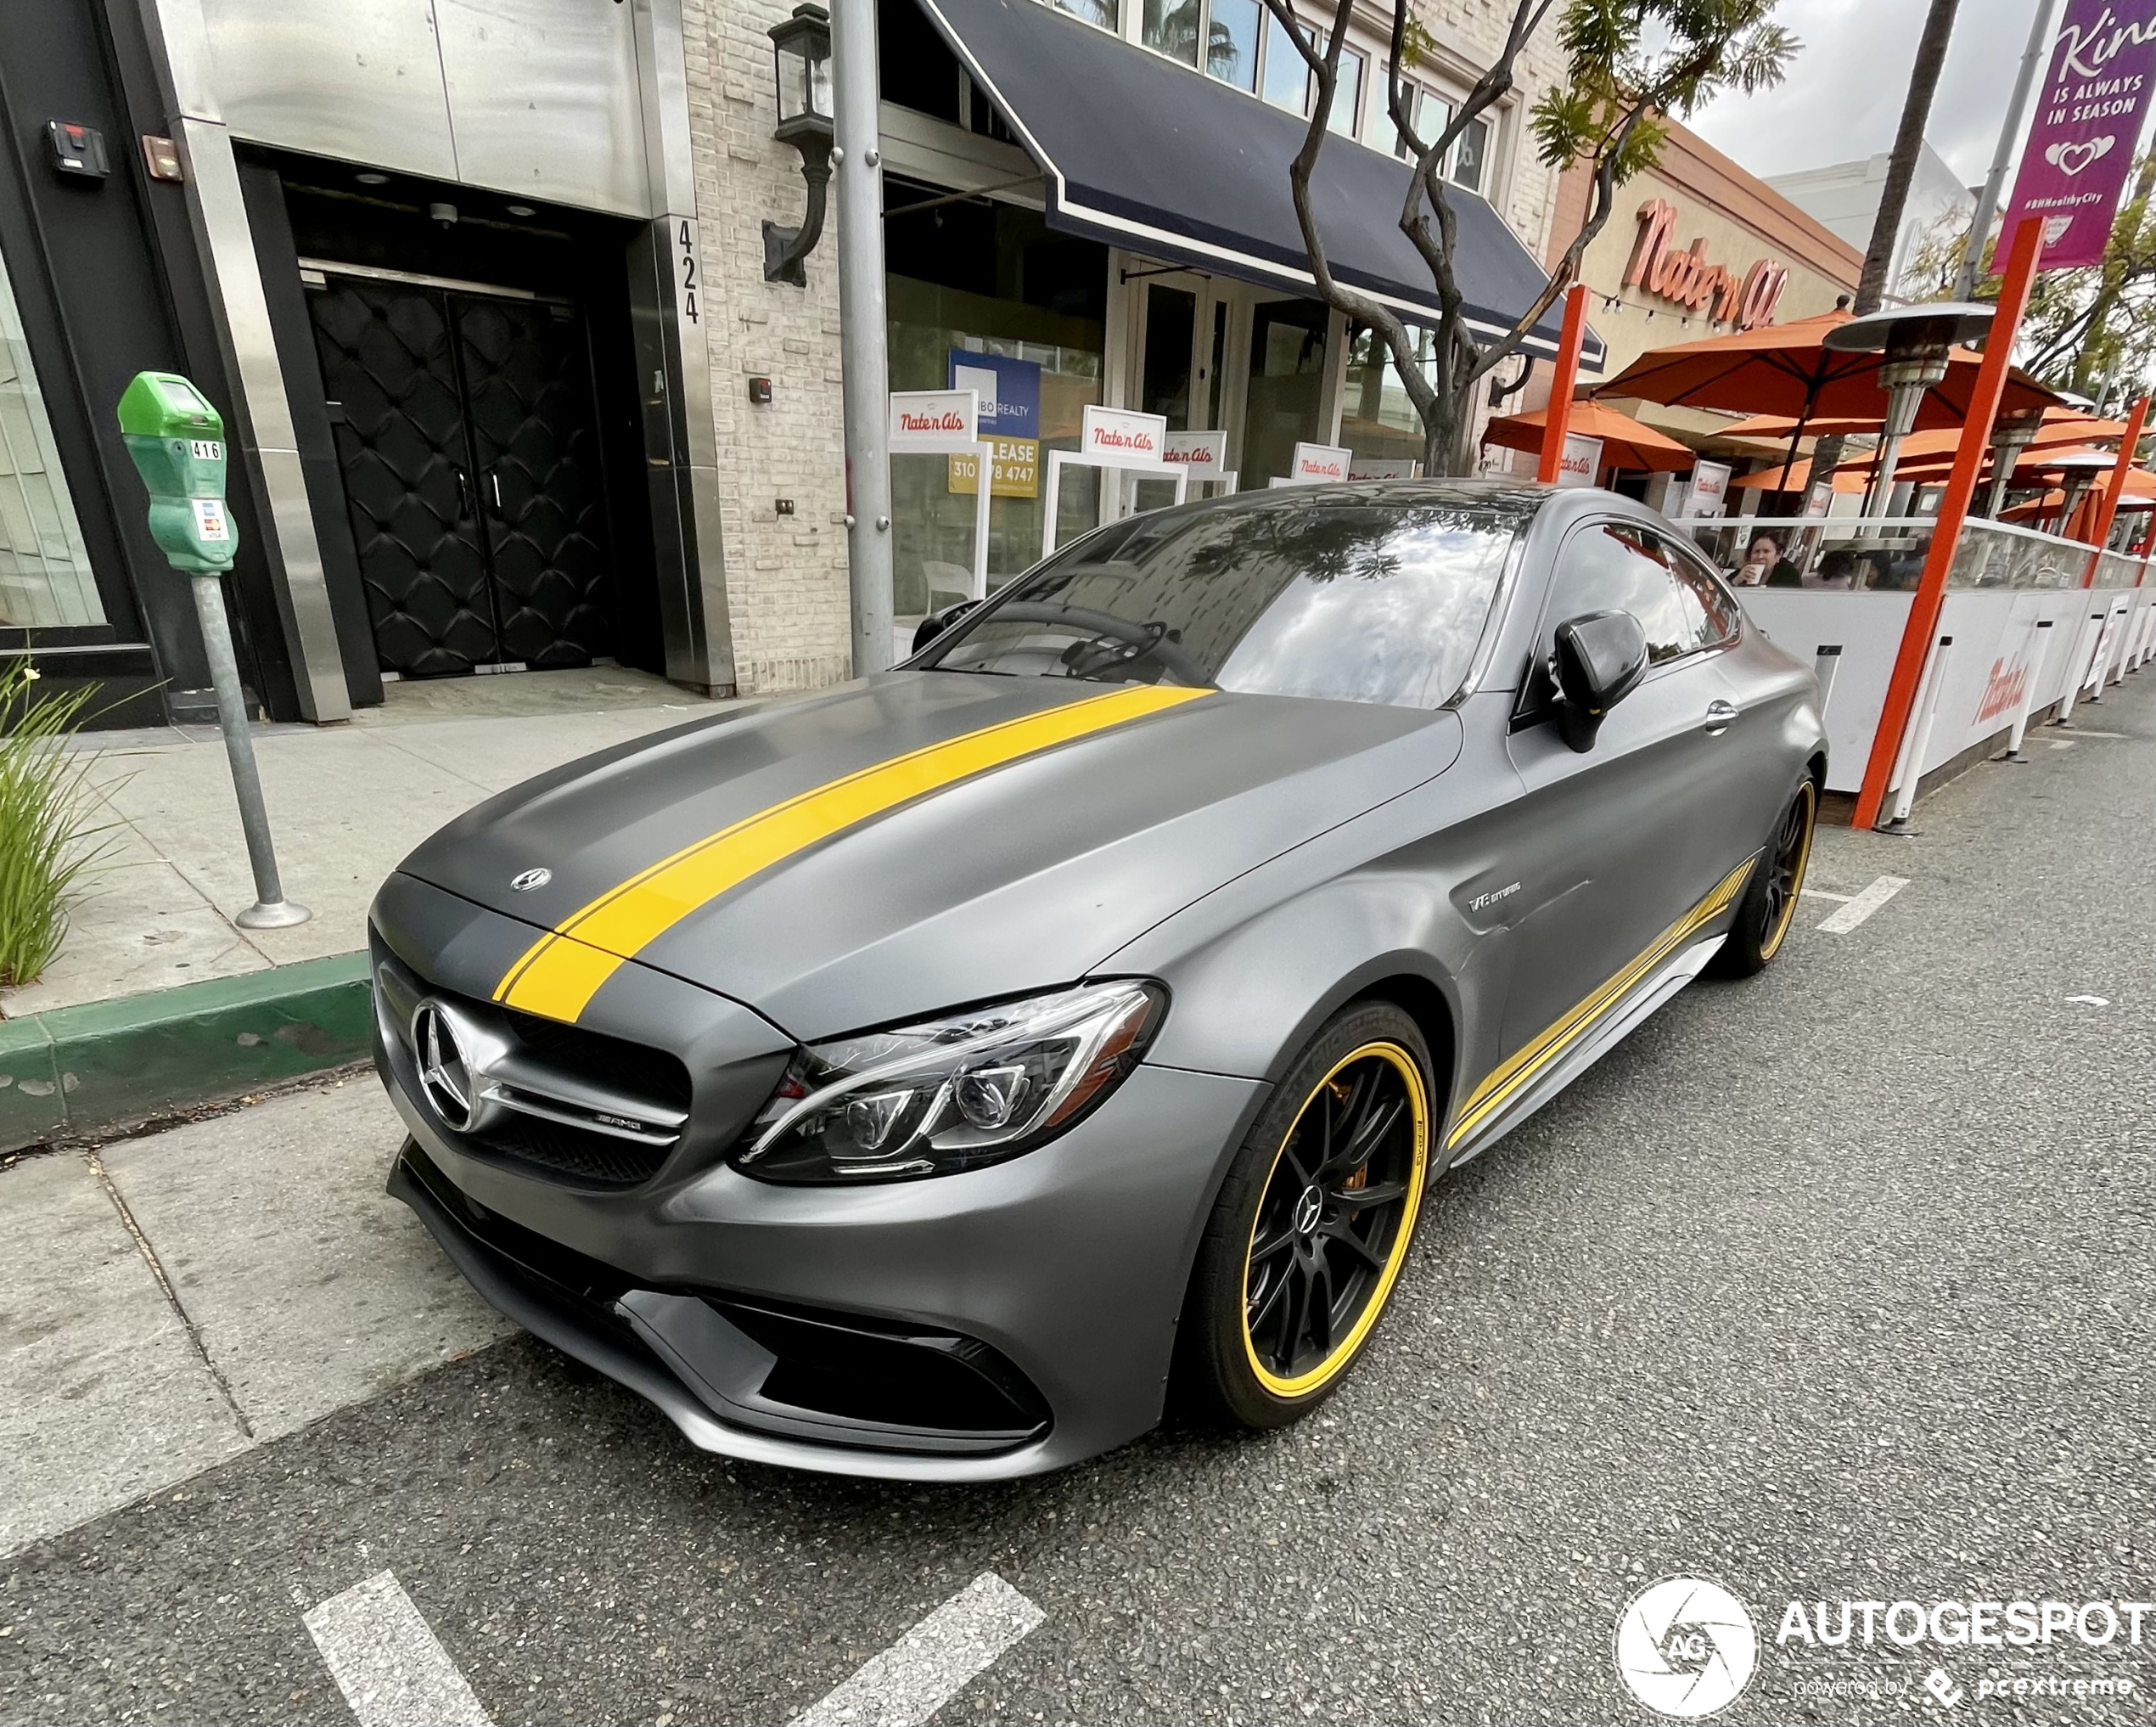
M1623 498L1136 515L414 852L390 1186L711 1451L983 1479L1171 1397L1283 1425L1440 1171L1772 959L1824 772L1811 671Z

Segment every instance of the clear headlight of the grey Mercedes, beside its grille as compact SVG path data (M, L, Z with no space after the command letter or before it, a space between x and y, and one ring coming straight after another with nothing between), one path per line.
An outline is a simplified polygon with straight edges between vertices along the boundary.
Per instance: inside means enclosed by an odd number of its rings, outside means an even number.
M1160 1024L1158 983L1089 983L796 1052L735 1169L765 1182L953 1175L1102 1102Z

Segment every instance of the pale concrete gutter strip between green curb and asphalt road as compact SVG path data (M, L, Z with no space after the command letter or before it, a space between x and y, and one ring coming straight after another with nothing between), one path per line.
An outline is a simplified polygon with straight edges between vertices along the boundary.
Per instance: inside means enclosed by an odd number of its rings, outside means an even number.
M511 1326L382 1184L373 1074L0 1166L0 1557Z

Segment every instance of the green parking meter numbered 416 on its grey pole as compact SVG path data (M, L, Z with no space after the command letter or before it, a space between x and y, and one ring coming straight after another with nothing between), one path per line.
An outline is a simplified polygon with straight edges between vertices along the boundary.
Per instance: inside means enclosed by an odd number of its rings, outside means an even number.
M218 580L239 554L239 530L224 507L224 416L185 377L138 371L121 392L121 440L149 487L149 533L172 569L192 580L194 614L203 621L209 681L218 692L218 727L233 765L239 828L254 865L254 903L233 923L241 929L282 929L306 923L306 906L285 899L270 843L270 809L248 735L246 694L233 653L233 625L224 617Z

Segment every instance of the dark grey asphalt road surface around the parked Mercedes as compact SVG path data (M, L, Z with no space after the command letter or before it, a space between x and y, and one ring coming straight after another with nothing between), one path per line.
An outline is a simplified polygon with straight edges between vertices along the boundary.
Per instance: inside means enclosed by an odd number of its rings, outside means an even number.
M1300 1429L865 1486L511 1339L0 1561L0 1721L349 1723L302 1613L382 1570L502 1727L787 1721L983 1572L1046 1619L940 1723L1651 1721L1613 1632L1673 1572L1759 1619L1729 1723L2147 1721L2141 1649L1772 1641L1789 1600L2156 1595L2156 675L2076 720L1921 839L1824 832L1815 886L1908 886L1841 936L1809 899L1449 1177Z

